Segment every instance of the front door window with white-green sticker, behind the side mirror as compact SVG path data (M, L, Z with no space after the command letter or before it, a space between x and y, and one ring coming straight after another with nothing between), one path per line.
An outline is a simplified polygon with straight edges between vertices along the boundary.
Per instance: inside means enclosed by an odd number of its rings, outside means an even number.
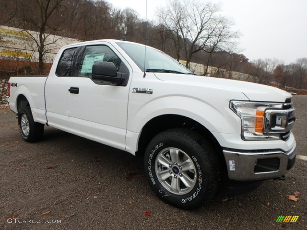
M113 62L115 64L117 72L128 71L126 65L109 47L105 45L95 45L87 46L85 48L83 57L81 59L78 76L91 77L92 66L95 62L98 61Z

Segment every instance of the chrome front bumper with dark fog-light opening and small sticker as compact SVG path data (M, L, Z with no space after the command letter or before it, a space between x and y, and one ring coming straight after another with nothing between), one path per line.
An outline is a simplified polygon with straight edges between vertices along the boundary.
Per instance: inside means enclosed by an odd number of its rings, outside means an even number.
M250 181L283 176L294 165L295 147L296 144L287 152L280 149L241 151L224 148L228 177Z

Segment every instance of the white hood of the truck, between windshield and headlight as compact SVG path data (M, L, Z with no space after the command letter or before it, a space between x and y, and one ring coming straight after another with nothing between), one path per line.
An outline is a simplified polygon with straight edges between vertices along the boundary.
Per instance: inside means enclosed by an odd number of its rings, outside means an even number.
M220 90L242 92L250 101L285 102L291 94L276 87L243 82L232 79L205 77L197 75L182 75L171 73L154 73L161 81L178 82L183 84L211 87ZM234 98L235 99L235 98Z

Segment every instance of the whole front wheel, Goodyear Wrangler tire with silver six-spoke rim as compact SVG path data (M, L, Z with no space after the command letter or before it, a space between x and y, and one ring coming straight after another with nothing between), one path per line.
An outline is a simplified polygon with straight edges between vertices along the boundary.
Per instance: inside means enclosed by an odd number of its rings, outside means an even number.
M220 164L212 146L189 129L155 136L146 148L144 168L157 196L181 209L203 206L219 186Z

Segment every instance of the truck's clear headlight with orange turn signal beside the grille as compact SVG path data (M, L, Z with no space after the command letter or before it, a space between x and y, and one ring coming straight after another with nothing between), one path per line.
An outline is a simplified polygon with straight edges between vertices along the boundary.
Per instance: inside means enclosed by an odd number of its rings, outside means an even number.
M280 136L264 134L265 110L282 109L283 103L231 101L230 108L241 118L243 140L279 140Z

